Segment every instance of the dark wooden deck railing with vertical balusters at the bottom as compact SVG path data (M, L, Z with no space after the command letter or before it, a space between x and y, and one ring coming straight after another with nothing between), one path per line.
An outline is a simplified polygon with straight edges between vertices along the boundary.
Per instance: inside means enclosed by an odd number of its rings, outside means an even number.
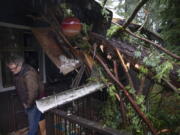
M128 135L58 109L46 114L46 123L47 135Z

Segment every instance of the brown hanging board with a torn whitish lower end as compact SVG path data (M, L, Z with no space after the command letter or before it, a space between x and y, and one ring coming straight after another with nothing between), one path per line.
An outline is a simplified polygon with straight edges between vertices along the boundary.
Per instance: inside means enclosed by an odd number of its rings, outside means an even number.
M53 37L51 28L32 28L32 33L40 43L44 52L51 61L60 69L60 72L66 75L76 69L80 63L79 60L69 59L65 56L60 43Z

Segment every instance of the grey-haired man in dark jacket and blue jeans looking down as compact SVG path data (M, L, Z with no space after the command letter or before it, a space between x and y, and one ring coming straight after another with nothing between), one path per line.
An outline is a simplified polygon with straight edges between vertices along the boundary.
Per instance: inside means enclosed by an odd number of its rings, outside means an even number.
M17 94L28 116L28 135L37 135L38 124L43 116L35 105L35 100L44 93L40 76L30 65L24 64L24 59L18 55L10 56L6 63L14 75Z

